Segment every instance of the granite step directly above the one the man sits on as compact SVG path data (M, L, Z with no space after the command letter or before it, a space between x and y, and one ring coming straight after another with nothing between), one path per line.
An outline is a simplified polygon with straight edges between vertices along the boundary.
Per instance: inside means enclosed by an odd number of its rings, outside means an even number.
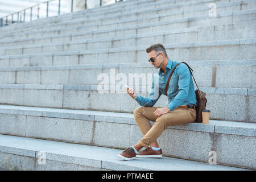
M148 86L136 88L135 92L138 96L148 97L150 92ZM256 122L255 88L199 86L199 89L207 94L207 109L211 111L211 119ZM133 113L134 108L139 106L138 102L126 93L126 88L119 85L0 84L0 94L2 96L0 104L6 105L122 113ZM167 97L163 95L154 106L165 107L167 104Z

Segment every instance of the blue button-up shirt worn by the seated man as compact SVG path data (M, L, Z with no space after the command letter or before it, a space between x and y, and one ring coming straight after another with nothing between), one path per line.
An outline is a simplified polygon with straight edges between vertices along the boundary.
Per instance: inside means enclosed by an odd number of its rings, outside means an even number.
M171 75L172 69L178 64L177 61L168 60L166 65L166 73L159 69L158 75L156 74L152 78L151 91L148 97L137 96L136 101L141 106L152 107L158 101L161 94L164 94L168 98L168 105L166 105L171 111L175 110L180 105L195 105L197 106L195 88L192 80L192 75L189 68L184 63L178 65L172 74L169 82L169 87L166 93L166 83ZM156 79L158 84L155 84ZM155 93L158 92L157 97L153 98Z

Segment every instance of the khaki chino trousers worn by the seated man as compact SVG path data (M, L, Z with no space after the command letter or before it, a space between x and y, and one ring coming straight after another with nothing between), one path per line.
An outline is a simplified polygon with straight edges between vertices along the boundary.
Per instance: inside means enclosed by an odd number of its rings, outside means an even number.
M139 144L145 148L154 142L167 126L184 125L196 121L196 109L189 109L187 105L180 105L174 111L169 111L166 114L156 117L154 111L158 108L163 107L143 108L139 106L134 110L134 119L143 134L143 138L139 140ZM153 126L150 121L155 122Z

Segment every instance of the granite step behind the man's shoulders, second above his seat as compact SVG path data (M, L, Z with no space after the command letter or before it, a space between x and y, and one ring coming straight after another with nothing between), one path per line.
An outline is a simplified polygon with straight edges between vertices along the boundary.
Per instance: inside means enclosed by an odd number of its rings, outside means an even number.
M256 88L256 60L185 62L193 69L198 86ZM0 84L102 85L106 82L109 85L112 77L118 82L118 75L122 74L125 75L123 80L127 83L133 81L133 84L129 84L131 86L142 85L151 88L152 76L158 71L159 69L155 69L149 63L6 67L0 68ZM196 86L195 82L194 85Z

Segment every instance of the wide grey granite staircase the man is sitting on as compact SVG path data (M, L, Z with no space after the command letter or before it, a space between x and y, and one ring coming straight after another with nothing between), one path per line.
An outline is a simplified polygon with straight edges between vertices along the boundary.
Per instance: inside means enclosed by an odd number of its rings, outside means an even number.
M127 0L0 28L0 159L9 156L20 169L24 155L33 170L255 170L255 6ZM145 49L155 43L193 69L210 122L167 127L158 139L163 159L123 162L117 154L142 134L133 117L139 105L118 75L148 75L133 85L146 97L158 70ZM98 92L102 75L109 93ZM166 102L161 96L155 106ZM47 165L36 162L39 151Z

